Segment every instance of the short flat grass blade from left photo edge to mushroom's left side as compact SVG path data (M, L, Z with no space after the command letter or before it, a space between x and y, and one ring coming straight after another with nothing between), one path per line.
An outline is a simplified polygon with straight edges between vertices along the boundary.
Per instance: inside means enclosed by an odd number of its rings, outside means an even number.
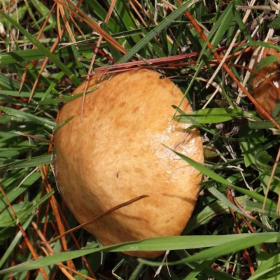
M39 157L27 158L26 160L17 160L6 165L0 166L0 171L20 169L26 167L36 167L39 165L48 165L53 162L52 155L41 155Z

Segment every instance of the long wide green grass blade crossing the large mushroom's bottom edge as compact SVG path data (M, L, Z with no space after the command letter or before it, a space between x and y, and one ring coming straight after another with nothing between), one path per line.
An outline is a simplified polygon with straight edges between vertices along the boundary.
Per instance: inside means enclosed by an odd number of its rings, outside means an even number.
M172 262L173 264L181 264L183 262L193 262L195 260L208 260L215 258L218 253L223 255L228 252L234 252L247 248L246 246L254 246L261 242L274 243L280 241L280 234L278 232L269 233L256 233L256 234L241 234L241 235L212 235L205 238L203 235L198 236L178 236L178 237L158 237L153 239L145 239L142 241L127 242L123 244L104 246L101 248L83 249L80 251L69 251L63 253L57 253L50 255L40 260L34 260L31 262L22 263L8 269L3 269L0 274L6 274L10 272L23 272L26 270L36 269L38 267L44 267L47 265L53 265L57 262L64 262L65 260L78 258L82 255L88 255L95 252L120 252L120 251L167 251L167 250L183 250L190 248L211 248L212 250L207 255L207 251L202 251L202 258L197 258L197 255L179 260L179 262ZM239 246L236 246L239 244ZM221 251L222 247L225 247L226 251ZM220 256L218 255L218 256ZM144 262L144 260L141 260ZM162 265L162 262L147 262L151 265ZM166 265L166 264L164 264Z

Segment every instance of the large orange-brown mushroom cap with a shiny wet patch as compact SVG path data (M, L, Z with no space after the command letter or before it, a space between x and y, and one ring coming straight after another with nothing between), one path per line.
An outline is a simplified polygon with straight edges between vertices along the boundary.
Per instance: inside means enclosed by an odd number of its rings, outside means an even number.
M92 78L88 90L97 85ZM83 92L82 83L73 94ZM62 107L55 132L57 186L79 223L141 195L85 230L105 246L180 235L193 212L202 175L169 148L204 162L198 130L172 120L172 104L192 111L168 78L147 69L99 82L99 88ZM167 148L169 147L169 148ZM153 258L160 251L130 251Z

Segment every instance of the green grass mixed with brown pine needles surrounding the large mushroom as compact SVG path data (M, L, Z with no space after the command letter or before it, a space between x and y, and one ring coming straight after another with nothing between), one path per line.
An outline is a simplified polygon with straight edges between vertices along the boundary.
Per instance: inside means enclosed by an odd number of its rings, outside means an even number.
M0 279L152 279L160 265L155 279L278 279L279 106L262 120L248 96L256 76L265 93L277 92L265 68L279 60L279 46L266 42L272 30L279 35L275 7L258 1L247 12L243 1L114 2L3 1ZM273 50L252 64L258 46ZM193 107L186 115L174 106L175 119L198 127L204 141L204 165L180 155L204 174L192 218L181 237L104 247L80 229L43 244L78 225L52 173L61 102L73 99L92 70L139 66L171 78ZM271 102L255 98L258 111ZM145 260L121 253L133 250L170 253L163 263L163 255Z

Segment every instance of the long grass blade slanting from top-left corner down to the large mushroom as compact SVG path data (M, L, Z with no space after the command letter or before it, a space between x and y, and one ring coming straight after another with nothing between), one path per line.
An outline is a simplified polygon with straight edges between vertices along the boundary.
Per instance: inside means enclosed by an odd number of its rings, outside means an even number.
M57 56L55 56L54 54L52 54L52 52L50 52L47 48L45 48L45 46L40 43L40 41L36 40L36 38L34 36L32 36L29 32L27 32L25 30L25 28L23 28L21 25L18 24L18 22L16 22L15 20L13 20L12 18L10 18L8 15L6 15L6 13L3 13L0 10L0 15L5 18L6 20L8 20L8 22L10 22L11 25L13 25L15 28L17 28L18 30L20 30L20 32L22 32L22 34L24 34L31 43L33 43L34 45L36 45L36 47L41 50L41 52L43 52L43 54L45 54L45 56L47 56L48 58L50 58L52 60L53 63L55 63L55 65L57 65L57 67L59 69L61 69L62 71L64 71L64 73L66 73L66 75L69 77L69 79L73 82L74 85L79 85L80 81L78 80L78 78L76 78L76 76L69 70L69 68L67 68L59 58L57 58Z

